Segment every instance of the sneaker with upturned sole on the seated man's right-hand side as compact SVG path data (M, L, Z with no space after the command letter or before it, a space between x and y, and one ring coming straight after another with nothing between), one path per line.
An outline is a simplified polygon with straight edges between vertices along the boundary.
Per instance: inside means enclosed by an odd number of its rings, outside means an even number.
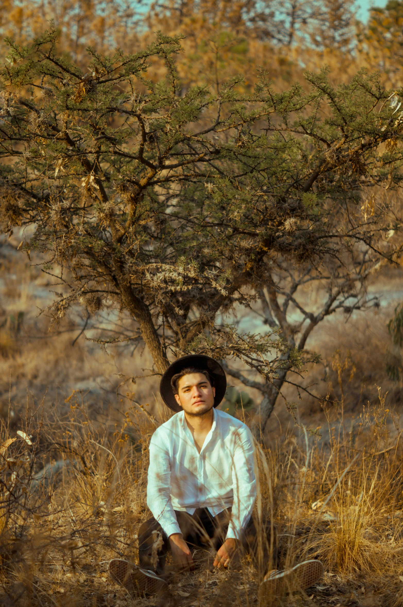
M298 589L305 590L318 582L322 575L321 561L304 561L292 569L269 571L261 583L261 590L268 595L282 595Z

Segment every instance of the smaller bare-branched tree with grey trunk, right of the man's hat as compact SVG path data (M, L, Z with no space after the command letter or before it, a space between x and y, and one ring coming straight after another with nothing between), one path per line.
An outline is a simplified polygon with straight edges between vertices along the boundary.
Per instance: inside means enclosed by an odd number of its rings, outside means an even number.
M343 217L345 208L341 206L339 213ZM356 223L362 222L359 209L353 219ZM379 236L381 241L382 236ZM381 242L378 244L381 245ZM345 313L342 322L347 322L355 311L379 307L377 296L368 297L367 283L368 277L381 265L379 254L370 247L350 248L348 245L344 251L342 246L339 247L337 257L325 256L319 266L308 264L296 267L282 256L273 260L270 283L260 291L253 311L270 330L278 331L288 344L282 353L284 366L278 370L272 382L262 382L224 363L229 375L262 394L259 415L255 419L256 433L264 430L284 384L296 385L300 391L315 394L315 388L310 385L301 386L299 369L288 370L288 357L295 349L304 352L312 331L322 320L336 312L342 310ZM317 295L312 297L315 291ZM318 293L322 296L319 301ZM305 351L305 354L308 352ZM295 404L286 399L285 403L296 421Z

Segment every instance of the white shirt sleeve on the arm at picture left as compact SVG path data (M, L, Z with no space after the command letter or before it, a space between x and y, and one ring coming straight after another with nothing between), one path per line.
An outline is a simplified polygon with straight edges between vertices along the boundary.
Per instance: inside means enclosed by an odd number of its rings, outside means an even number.
M147 480L147 506L169 537L181 533L171 501L171 466L168 448L161 432L150 441L150 466Z

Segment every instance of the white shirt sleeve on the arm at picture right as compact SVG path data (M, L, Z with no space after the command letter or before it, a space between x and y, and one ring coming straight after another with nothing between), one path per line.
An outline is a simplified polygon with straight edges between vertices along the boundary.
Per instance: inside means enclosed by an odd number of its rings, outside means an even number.
M235 435L232 481L234 501L227 538L241 540L256 500L255 447L247 428L239 429Z

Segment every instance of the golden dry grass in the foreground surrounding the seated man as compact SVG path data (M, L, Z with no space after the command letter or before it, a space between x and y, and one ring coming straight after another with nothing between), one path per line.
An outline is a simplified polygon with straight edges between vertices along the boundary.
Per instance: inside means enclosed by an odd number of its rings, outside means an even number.
M78 397L74 393L64 403L70 407L64 418L41 408L26 416L24 432L32 445L2 427L2 604L272 602L259 594L265 571L253 569L247 555L240 572L210 572L201 558L195 572L172 577L163 598L131 599L108 578L110 558L137 558L136 531L149 515L145 489L153 424L135 407L128 408L124 422L95 424ZM311 598L299 592L276 600L395 607L403 600L399 416L380 393L379 403L365 407L348 432L340 409L328 410L327 417L329 444L302 432L258 451L255 517L271 518L276 527L281 566L315 556L326 569L309 589ZM41 478L38 472L52 462L53 474L42 472Z

